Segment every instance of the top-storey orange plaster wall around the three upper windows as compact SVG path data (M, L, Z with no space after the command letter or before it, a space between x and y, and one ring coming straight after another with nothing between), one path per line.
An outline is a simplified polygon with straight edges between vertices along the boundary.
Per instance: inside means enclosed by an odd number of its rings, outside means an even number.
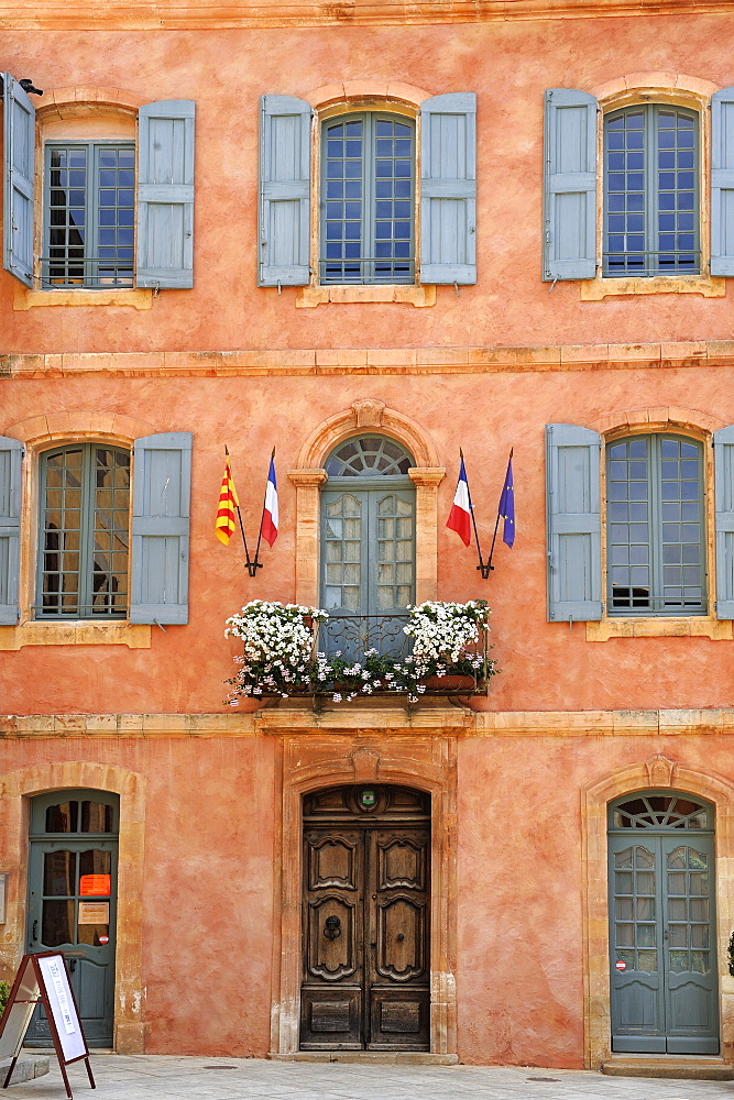
M556 344L716 339L727 298L660 295L581 302L540 282L543 92L592 90L650 70L734 81L726 14L436 26L196 32L6 32L0 66L39 87L120 87L140 101L197 101L195 280L145 311L12 311L0 272L3 352ZM295 309L296 290L255 286L258 103L341 80L478 92L479 283L437 305ZM43 100L40 101L43 103Z

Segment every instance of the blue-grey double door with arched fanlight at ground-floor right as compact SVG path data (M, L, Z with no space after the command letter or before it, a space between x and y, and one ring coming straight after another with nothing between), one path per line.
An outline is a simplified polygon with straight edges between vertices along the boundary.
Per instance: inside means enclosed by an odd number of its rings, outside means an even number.
M642 791L609 806L612 1049L717 1054L714 814Z

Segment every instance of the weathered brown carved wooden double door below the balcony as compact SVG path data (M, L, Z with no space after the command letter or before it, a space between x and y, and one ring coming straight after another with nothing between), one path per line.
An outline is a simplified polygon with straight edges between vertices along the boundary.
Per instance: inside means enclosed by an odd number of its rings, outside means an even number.
M302 1049L429 1049L429 897L428 795L307 796Z

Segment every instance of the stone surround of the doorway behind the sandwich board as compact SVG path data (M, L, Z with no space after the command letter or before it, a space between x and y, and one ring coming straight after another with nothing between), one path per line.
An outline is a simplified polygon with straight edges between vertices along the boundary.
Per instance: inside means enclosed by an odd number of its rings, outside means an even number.
M79 761L41 763L3 776L0 789L0 848L11 871L0 960L12 976L25 950L31 799L50 791L89 788L120 795L118 927L114 961L114 1049L143 1054L143 887L145 779L111 765ZM20 862L17 862L20 853Z

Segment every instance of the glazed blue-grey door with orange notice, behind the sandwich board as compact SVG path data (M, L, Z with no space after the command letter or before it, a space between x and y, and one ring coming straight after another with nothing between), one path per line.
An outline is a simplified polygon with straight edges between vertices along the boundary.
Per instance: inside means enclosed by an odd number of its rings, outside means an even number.
M111 1047L114 1023L120 798L64 790L31 802L26 952L61 950L87 1043ZM48 1046L36 1010L29 1046Z

